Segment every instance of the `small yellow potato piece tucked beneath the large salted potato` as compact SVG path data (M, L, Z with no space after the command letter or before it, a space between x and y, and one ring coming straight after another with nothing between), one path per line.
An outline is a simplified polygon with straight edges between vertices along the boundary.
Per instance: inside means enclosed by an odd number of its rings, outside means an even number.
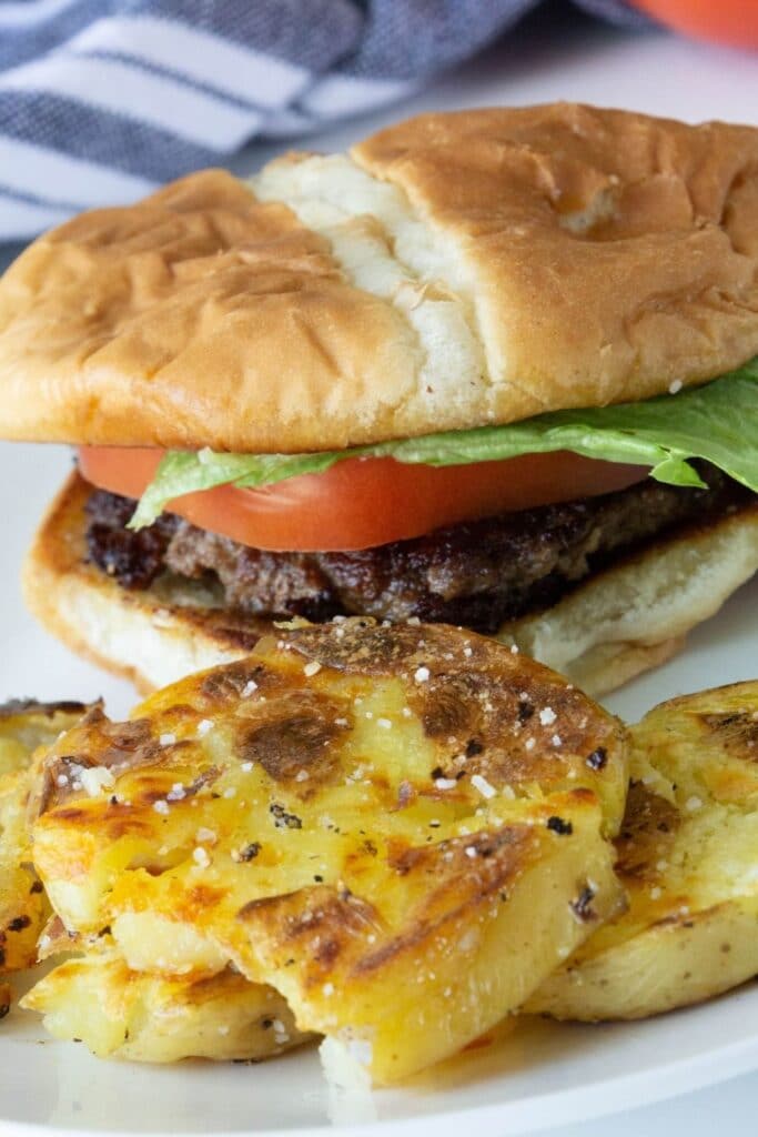
M265 1059L303 1041L281 995L226 969L215 976L130 971L113 948L67 960L22 999L56 1038L99 1057L176 1062Z

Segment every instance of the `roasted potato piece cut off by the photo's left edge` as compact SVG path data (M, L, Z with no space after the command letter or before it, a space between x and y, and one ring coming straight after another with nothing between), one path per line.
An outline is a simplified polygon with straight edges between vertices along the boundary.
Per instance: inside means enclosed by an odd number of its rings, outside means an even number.
M0 976L36 961L38 936L49 912L32 868L26 823L32 755L85 709L80 703L32 700L0 706ZM0 985L0 1012L9 1004L9 991Z

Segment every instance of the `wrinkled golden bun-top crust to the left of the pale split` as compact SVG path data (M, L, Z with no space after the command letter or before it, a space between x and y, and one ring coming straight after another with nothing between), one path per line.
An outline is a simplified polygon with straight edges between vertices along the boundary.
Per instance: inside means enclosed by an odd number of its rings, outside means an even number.
M308 423L325 416L342 445L358 440L343 422L352 405L391 422L414 351L400 316L345 283L323 239L206 171L136 206L84 214L11 266L0 284L0 432L307 449Z

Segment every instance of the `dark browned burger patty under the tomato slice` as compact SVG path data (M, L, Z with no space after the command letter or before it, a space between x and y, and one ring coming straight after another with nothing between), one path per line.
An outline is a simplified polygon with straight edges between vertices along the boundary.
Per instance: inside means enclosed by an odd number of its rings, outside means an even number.
M93 490L86 540L90 559L125 588L147 589L170 572L215 584L226 607L258 616L417 616L491 633L555 604L622 554L749 496L710 467L705 476L708 489L645 480L351 553L267 553L173 514L132 532L125 526L136 503Z

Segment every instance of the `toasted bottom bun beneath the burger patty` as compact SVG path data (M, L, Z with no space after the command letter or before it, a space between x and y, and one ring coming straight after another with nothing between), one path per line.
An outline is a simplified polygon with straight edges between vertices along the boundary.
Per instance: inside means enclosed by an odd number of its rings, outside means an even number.
M127 590L86 561L91 490L70 475L24 565L32 613L80 655L143 694L247 655L270 621L214 606L200 584L164 578ZM758 503L626 557L544 612L507 623L515 644L591 695L619 687L678 652L686 632L758 571Z

